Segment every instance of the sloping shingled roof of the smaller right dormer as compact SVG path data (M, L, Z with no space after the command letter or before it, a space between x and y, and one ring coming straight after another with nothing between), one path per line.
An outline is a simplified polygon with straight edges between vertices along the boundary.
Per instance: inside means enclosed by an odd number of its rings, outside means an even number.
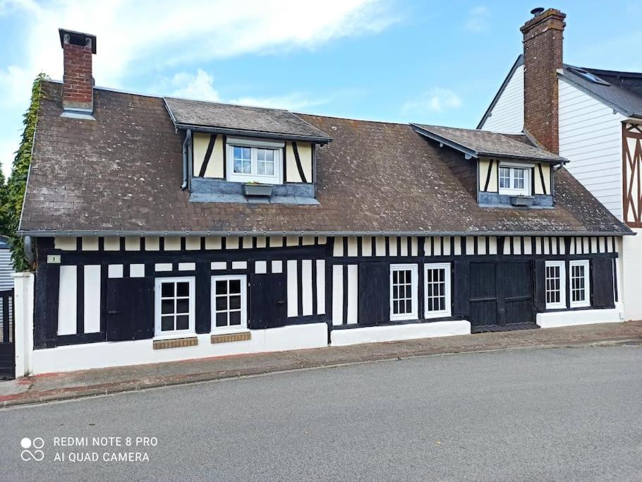
M559 157L552 152L495 132L456 127L426 126L425 124L412 125L417 128L418 133L432 140L447 144L471 157L507 157L543 162L567 162L564 157Z

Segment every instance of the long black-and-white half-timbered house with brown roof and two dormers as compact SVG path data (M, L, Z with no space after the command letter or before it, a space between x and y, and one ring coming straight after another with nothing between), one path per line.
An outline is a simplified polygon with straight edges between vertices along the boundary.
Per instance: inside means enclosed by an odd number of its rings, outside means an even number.
M621 320L631 230L526 135L97 88L60 40L33 373Z

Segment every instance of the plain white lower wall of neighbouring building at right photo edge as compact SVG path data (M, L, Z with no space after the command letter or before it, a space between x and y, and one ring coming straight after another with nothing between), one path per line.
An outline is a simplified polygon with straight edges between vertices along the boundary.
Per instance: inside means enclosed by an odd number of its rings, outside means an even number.
M636 236L622 236L622 301L624 319L642 320L642 229Z

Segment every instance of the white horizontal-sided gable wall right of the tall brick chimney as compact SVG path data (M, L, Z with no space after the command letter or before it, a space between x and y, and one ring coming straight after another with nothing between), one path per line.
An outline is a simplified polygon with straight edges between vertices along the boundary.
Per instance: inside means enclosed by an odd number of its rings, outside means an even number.
M559 79L559 155L567 169L622 219L622 114Z

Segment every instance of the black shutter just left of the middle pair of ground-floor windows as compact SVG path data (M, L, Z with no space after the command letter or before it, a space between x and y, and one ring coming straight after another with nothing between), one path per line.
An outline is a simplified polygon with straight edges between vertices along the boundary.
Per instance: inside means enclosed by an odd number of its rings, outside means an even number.
M345 282L346 280L344 280ZM390 265L359 265L359 325L377 325L390 320Z

